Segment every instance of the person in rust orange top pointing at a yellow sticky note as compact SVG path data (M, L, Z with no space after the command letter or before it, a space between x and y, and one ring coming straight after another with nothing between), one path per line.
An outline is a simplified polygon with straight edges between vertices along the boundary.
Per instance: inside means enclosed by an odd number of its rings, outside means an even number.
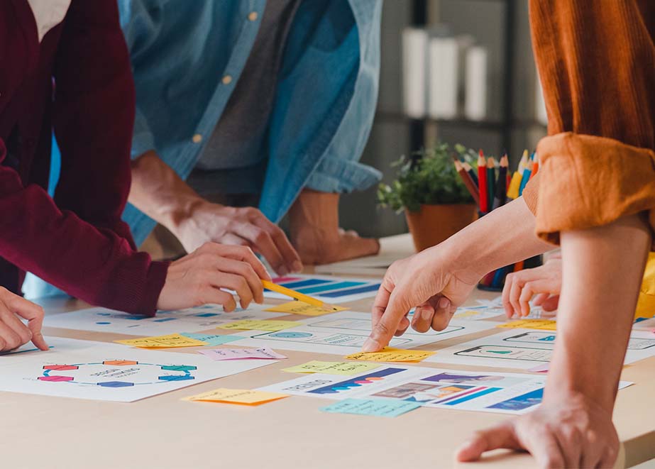
M531 0L549 115L524 197L393 264L365 351L409 326L444 329L486 272L561 245L558 338L536 411L478 431L457 453L525 449L546 467L608 467L624 353L655 226L655 2ZM511 226L497 236L497 226ZM536 235L535 235L536 233ZM608 327L610 325L610 327Z

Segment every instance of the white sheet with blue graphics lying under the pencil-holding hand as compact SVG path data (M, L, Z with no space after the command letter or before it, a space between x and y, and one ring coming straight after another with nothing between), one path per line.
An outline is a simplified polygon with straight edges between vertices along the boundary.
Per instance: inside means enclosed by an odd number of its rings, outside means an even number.
M251 304L248 309L237 308L231 313L226 313L219 305L207 304L177 311L157 311L154 317L127 314L113 309L89 308L45 316L43 325L78 331L163 336L177 332L206 331L242 319L273 319L283 315L263 311L265 308L267 308L265 305Z

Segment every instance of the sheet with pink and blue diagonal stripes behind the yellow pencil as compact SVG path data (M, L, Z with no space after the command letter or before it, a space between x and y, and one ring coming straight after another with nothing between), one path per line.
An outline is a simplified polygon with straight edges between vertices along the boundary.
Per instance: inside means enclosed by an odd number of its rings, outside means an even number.
M344 279L330 275L289 275L273 279L277 285L294 289L299 293L320 299L323 302L343 303L357 299L375 297L380 281L370 279ZM267 298L286 299L283 294L264 290Z

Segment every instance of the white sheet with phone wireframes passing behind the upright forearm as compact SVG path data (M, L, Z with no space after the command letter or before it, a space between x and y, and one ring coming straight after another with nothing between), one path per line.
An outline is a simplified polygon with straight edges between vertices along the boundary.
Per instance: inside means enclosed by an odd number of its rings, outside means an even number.
M529 370L550 362L556 337L555 331L510 329L444 348L425 361ZM634 363L654 355L655 337L648 332L633 331L624 363Z

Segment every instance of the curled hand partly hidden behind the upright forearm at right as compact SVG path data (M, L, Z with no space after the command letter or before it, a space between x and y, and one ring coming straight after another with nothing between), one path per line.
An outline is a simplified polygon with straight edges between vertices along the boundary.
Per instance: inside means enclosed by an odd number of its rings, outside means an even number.
M529 301L544 311L555 311L562 289L562 258L551 255L544 265L533 269L512 272L505 277L502 288L502 305L508 318L530 314Z

